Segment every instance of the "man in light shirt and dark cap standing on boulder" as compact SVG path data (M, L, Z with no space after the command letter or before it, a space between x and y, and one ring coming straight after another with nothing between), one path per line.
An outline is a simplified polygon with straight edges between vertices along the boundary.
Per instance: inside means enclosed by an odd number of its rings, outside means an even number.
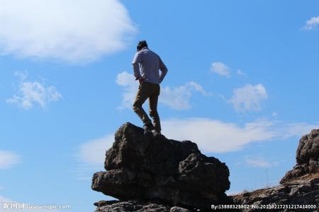
M132 64L135 80L140 82L140 86L133 104L133 110L142 119L145 134L152 131L154 135L157 135L161 133L161 124L157 113L159 83L163 81L167 73L167 67L155 52L148 49L145 40L138 42L137 51ZM160 74L159 70L161 71ZM150 103L150 117L152 117L154 125L142 108L142 104L147 98Z

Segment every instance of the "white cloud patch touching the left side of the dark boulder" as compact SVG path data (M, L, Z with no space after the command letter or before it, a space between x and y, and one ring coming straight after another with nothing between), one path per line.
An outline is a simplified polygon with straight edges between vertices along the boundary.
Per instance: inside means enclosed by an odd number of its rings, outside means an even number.
M114 136L113 134L109 134L101 139L94 139L82 143L82 145L79 146L77 158L85 165L103 167L106 150L111 148L113 142Z

